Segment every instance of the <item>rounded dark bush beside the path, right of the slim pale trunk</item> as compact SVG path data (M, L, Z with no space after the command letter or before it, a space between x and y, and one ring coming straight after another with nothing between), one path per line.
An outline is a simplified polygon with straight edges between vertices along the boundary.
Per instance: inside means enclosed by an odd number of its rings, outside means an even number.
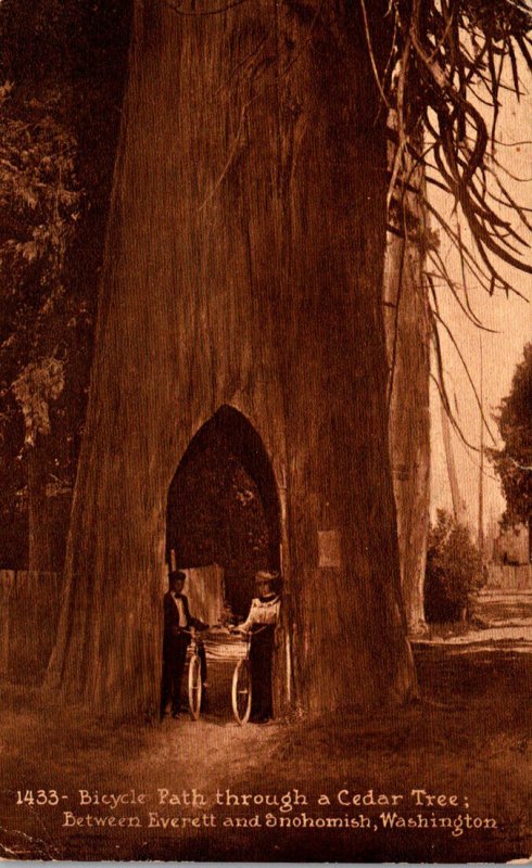
M483 584L482 557L469 531L445 510L438 510L429 532L425 615L429 623L459 621L471 596Z

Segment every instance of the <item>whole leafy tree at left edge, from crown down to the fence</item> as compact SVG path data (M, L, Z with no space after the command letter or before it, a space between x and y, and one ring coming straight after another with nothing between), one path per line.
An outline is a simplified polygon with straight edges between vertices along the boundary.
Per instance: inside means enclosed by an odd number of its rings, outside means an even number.
M18 521L4 522L9 536L2 540L2 557L3 565L21 566L26 560L20 539L25 536L24 506L28 509L29 505L30 535L36 539L35 521L46 503L46 493L28 493L26 483L29 464L36 468L36 450L42 471L33 475L41 482L38 487L47 485L51 473L68 474L65 462L59 460L59 443L47 450L46 457L41 446L50 434L49 404L64 387L62 378L60 387L50 391L47 372L50 366L63 370L73 336L74 341L79 339L75 328L78 302L65 288L65 259L76 231L81 194L74 168L77 143L58 111L61 92L53 89L42 91L39 98L17 97L14 85L8 82L0 90L0 99L4 314L0 327L0 448L4 459L4 519L15 518L5 515L13 502L21 505ZM34 547L30 549L35 558Z

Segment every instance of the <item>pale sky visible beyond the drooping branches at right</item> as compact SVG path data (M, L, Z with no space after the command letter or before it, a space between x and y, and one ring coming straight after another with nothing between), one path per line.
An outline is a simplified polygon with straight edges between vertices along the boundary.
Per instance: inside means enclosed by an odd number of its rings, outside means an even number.
M529 76L530 79L530 76ZM532 82L529 90L532 90ZM497 145L495 155L509 171L521 182L512 180L502 174L508 192L521 205L532 207L532 95L529 93L520 103L510 95L505 99L501 111L497 138L502 144ZM433 203L447 215L451 214L448 202L441 195L432 194ZM532 217L532 214L530 215ZM454 219L454 218L453 218ZM461 220L463 238L467 239ZM432 226L432 228L435 228ZM515 228L520 228L519 218ZM532 233L528 233L532 241ZM449 245L443 244L442 256L447 269L457 282L461 282L461 268L459 258ZM532 255L527 252L524 261L532 265ZM474 279L468 278L468 291L471 307L485 327L495 330L495 333L480 332L469 323L460 311L452 293L447 290L440 291L439 303L442 318L453 331L460 347L460 352L469 368L471 378L480 390L480 335L482 334L483 357L483 396L484 412L489 418L490 427L498 434L492 416L496 412L501 400L508 394L511 378L517 363L522 358L523 346L532 341L532 276L517 272L510 267L502 269L503 275L512 285L529 299L529 303L517 295L506 296L503 291L497 291L493 296L481 288L474 285ZM442 348L447 390L455 405L455 412L460 422L460 427L466 438L474 446L480 445L480 412L471 385L468 382L464 365L458 353L453 347L451 340L442 332ZM445 464L445 455L442 441L440 398L435 386L431 385L431 513L434 516L438 507L452 508L451 490ZM484 434L485 445L493 445L487 432ZM454 455L461 498L466 502L468 520L471 528L478 528L478 493L479 493L479 454L468 449L460 442L458 435L452 434ZM497 445L501 442L497 441ZM484 461L484 526L501 516L505 503L501 493L501 485L494 477L493 468Z

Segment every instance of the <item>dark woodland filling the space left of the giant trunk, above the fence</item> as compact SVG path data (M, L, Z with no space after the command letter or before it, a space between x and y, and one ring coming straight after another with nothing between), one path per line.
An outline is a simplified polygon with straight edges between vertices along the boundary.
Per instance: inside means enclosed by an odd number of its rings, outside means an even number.
M0 8L2 566L62 567L126 36L118 2Z

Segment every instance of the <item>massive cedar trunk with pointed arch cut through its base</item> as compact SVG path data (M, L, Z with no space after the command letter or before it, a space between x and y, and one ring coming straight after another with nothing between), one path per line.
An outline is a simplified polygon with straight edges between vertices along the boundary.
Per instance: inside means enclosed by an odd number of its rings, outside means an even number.
M388 448L385 118L346 7L137 7L49 672L100 711L157 707L168 485L223 405L279 487L277 695L312 712L415 688Z

